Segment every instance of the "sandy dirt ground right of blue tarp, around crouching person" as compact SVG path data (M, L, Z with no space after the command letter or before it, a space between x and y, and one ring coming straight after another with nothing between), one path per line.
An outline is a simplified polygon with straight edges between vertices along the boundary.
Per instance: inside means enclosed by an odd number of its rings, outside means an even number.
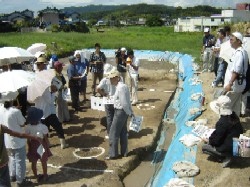
M214 128L218 116L210 109L209 103L213 100L216 91L211 87L214 79L214 73L202 73L200 75L203 81L202 89L205 93L206 110L199 118L207 118L208 126ZM221 89L219 87L217 89ZM247 117L241 118L245 133L250 130L250 113L247 111ZM222 168L222 164L212 160L208 155L202 154L200 144L198 146L196 164L200 168L200 174L195 177L196 187L248 187L250 186L250 158L234 158L228 168Z

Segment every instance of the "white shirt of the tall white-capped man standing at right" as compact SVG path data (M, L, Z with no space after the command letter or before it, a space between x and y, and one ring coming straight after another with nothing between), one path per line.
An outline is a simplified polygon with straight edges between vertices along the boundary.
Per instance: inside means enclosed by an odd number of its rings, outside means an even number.
M242 54L244 54L244 57ZM233 72L239 74L243 73L243 61L244 61L244 75L246 75L248 68L248 55L247 52L242 47L239 47L238 49L236 49L233 56L231 57L230 62L228 63L225 75L224 87L226 87L229 84ZM239 85L238 80L236 79L233 83L232 89L234 92L241 93L244 91L245 87L246 87L246 79L243 79L242 85Z

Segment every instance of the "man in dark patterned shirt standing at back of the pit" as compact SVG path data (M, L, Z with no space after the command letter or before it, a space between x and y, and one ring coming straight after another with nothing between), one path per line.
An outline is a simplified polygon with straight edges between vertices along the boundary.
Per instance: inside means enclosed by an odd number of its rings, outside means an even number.
M93 95L96 95L96 81L97 78L99 82L103 78L103 66L106 63L106 56L100 50L101 46L99 43L95 44L95 52L90 55L90 72L92 73L92 92Z

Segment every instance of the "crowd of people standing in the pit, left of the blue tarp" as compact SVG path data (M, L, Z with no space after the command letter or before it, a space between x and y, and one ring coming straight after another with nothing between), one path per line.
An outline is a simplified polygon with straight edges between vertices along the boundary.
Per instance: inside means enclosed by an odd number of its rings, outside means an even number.
M109 141L109 154L106 159L113 160L120 156L127 156L127 119L129 116L134 116L132 104L138 103L139 60L136 60L133 50L126 51L124 47L118 49L114 55L117 66L106 63L106 56L101 51L99 43L95 44L95 51L89 59L76 52L68 57L69 64L66 71L68 81L62 73L63 63L56 55L52 55L50 62L47 61L44 53L37 57L33 68L36 74L50 68L54 69L50 86L33 101L33 104L27 101L27 87L18 90L19 95L16 100L1 101L0 186L9 187L10 182L16 182L18 187L31 183L25 177L26 155L31 162L31 169L37 182L47 181L47 160L52 156L48 134L52 127L59 138L61 148L70 146L65 140L62 125L72 120L64 95L69 89L72 109L75 113L81 112L82 103L88 101L86 89L87 77L90 73L93 96L99 94L101 97L112 98L112 103L105 105L107 119L105 138ZM80 94L83 96L82 101L80 101ZM4 137L3 134L9 135ZM24 138L28 138L28 141ZM38 160L41 161L43 174L37 172Z

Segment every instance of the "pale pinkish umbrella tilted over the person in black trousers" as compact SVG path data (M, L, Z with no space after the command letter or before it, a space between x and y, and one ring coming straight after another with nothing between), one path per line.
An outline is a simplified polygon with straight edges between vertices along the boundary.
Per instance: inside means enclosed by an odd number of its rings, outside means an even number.
M37 97L42 96L44 91L51 85L54 77L54 70L43 70L37 72L35 80L28 86L27 100L33 102Z

